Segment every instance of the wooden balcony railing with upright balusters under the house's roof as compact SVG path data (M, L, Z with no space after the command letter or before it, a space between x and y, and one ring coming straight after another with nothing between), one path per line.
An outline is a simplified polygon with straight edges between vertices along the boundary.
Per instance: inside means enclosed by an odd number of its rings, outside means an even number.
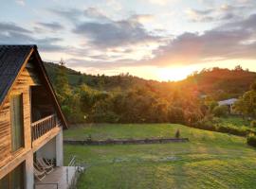
M56 114L46 116L45 118L32 123L31 124L32 141L35 141L36 139L38 139L41 136L43 136L44 134L46 134L47 131L49 131L50 129L53 129L57 126L58 126L58 124L57 124Z

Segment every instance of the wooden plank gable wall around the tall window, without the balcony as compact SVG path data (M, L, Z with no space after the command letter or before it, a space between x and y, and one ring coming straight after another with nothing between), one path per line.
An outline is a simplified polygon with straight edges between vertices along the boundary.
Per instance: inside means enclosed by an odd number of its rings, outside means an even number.
M15 159L18 155L31 148L31 130L30 130L30 98L29 86L35 85L27 68L24 68L21 75L13 85L9 96L12 94L23 94L23 112L24 112L24 138L25 146L16 152L11 152L11 127L10 127L10 107L9 98L0 111L0 167Z

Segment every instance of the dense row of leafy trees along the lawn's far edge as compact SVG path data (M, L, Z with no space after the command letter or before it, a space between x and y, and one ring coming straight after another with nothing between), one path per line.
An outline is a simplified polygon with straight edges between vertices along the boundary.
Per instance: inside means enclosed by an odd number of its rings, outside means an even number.
M125 91L102 91L84 83L71 88L63 67L57 73L55 88L70 123L191 124L203 116L200 102L192 93L174 90L165 94L152 85Z

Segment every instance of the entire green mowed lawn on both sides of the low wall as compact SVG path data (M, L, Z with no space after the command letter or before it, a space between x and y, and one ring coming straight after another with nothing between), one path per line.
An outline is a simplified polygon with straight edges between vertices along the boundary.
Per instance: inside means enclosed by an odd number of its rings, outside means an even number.
M172 124L90 125L64 132L65 137L95 139L174 136L189 143L64 146L65 163L77 155L90 165L78 188L256 188L256 151L246 139Z

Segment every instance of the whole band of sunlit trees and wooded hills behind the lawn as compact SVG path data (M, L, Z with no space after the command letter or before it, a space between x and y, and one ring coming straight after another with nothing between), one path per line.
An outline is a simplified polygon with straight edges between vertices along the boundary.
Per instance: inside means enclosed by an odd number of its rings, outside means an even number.
M241 67L233 71L219 68L205 69L183 81L161 83L122 74L116 77L84 75L86 82L80 77L77 84L70 84L68 72L73 74L75 71L66 69L64 62L61 61L54 77L51 78L64 115L71 124L176 123L242 136L254 131L214 123L214 117L227 116L229 109L218 106L218 98L212 93L202 98L198 86L199 82L205 84L200 86L201 89L207 89L206 83L213 77L222 77L223 73L226 75L229 73L229 77L239 75L239 78L240 75L247 76L247 74L249 78L254 76L253 73L243 71ZM78 73L78 76L83 75ZM203 82L200 76L208 81ZM222 83L227 85L226 81ZM256 94L255 86L256 84L251 85L250 91L245 94L240 92L242 95L235 108L243 116L251 116L252 119L255 119L256 113L256 105L252 103Z

